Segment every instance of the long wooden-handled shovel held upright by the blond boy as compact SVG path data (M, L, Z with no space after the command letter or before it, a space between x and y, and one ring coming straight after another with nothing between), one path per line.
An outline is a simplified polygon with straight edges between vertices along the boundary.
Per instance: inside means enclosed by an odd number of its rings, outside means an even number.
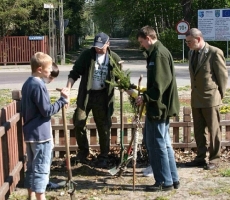
M57 91L61 91L62 89L56 88ZM66 122L66 108L62 107L62 121L64 128L64 136L65 136L65 147L66 147L66 168L68 170L68 180L66 181L66 187L68 188L68 193L70 194L70 199L75 200L73 193L76 189L77 183L72 180L72 170L70 163L70 151L69 151L69 136L67 132L67 122Z

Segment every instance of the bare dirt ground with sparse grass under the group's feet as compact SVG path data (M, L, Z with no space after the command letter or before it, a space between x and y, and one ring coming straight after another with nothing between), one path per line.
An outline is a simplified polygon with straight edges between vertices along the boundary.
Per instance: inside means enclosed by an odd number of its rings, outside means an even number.
M113 151L112 151L113 152ZM144 177L142 170L147 165L145 153L143 157L138 154L135 178L135 191L133 191L133 168L128 165L122 176L112 176L108 172L112 166L119 162L119 152L111 154L108 169L95 168L95 155L91 154L88 163L75 163L74 158L71 159L72 175L76 184L76 190L73 197L77 200L174 200L174 199L223 199L229 200L230 196L230 153L229 149L222 151L222 159L217 170L207 171L203 168L187 168L184 162L189 161L196 155L193 151L176 150L176 160L178 173L180 177L180 188L168 192L145 192L147 185L154 184L153 177ZM226 176L228 174L228 177ZM64 159L55 159L51 167L50 179L52 182L60 183L66 181L68 171L65 167ZM66 200L70 199L68 187L47 190L47 199ZM14 192L10 199L26 199L26 190L18 189Z

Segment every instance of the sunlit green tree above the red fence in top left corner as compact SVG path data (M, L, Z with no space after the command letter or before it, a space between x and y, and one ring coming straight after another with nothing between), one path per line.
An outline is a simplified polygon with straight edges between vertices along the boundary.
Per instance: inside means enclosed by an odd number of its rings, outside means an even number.
M0 32L5 35L31 35L48 33L46 0L1 0ZM49 3L57 3L50 0Z

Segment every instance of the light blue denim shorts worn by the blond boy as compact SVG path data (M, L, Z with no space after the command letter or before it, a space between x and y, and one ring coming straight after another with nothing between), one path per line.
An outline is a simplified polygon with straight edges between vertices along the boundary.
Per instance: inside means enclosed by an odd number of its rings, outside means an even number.
M25 188L36 193L45 192L49 182L52 149L51 140L43 143L26 143L28 161Z

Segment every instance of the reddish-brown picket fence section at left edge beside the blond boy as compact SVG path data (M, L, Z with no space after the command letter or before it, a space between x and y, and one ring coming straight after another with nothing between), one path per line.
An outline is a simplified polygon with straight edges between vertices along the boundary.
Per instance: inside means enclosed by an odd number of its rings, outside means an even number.
M25 144L22 134L22 119L13 101L0 110L0 199L15 190L19 181L24 181ZM22 183L21 182L21 183Z

